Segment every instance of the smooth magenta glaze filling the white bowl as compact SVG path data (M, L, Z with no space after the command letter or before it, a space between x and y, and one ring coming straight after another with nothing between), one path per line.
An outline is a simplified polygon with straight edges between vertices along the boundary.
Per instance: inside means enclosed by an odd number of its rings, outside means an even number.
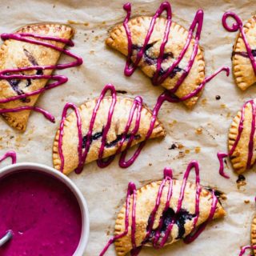
M50 175L22 170L0 180L0 237L14 237L2 256L70 256L78 247L82 215L74 194Z

